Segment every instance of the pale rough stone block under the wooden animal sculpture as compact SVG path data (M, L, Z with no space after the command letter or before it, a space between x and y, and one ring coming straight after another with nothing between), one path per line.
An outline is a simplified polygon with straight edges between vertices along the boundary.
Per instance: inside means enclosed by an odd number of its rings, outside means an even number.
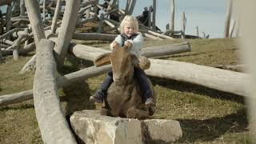
M98 110L74 112L70 124L74 133L86 144L174 142L182 137L178 121L114 118L100 115Z

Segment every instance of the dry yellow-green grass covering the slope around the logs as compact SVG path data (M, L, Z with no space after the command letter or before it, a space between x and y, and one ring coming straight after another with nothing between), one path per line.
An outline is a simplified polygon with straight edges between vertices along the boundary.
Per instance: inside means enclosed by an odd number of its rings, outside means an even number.
M146 41L143 47L162 46L178 40ZM170 60L192 62L204 66L236 65L239 63L238 49L234 39L194 39L188 40L192 51L166 57ZM110 42L79 42L108 49ZM34 72L19 75L18 71L32 54L14 62L7 57L0 64L0 95L30 90ZM92 66L92 62L66 58L60 74ZM105 74L66 86L59 90L65 114L77 110L98 109L100 106L88 101L97 90ZM248 116L242 96L212 90L204 86L178 82L170 79L150 77L157 95L154 118L178 120L183 136L177 143L251 143ZM33 101L0 106L0 143L42 143Z

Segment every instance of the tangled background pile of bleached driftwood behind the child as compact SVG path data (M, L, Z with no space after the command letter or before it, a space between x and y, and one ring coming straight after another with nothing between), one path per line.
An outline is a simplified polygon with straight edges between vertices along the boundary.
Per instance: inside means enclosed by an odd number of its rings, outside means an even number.
M37 11L42 16L42 30L46 32L46 38L56 37L58 35L57 29L62 22L70 21L70 19L62 21L64 10L67 8L66 2L63 0L43 0L39 2ZM118 27L122 18L126 14L133 13L135 4L136 0L127 1L126 9L123 10L119 8L118 0L106 0L103 3L99 3L98 0L83 0L76 8L78 12L72 19L75 22L74 26L83 26L87 22L97 22L98 30L95 31L96 33L74 33L73 38L79 40L113 40L116 34L109 34L110 31L119 30ZM13 54L14 60L18 60L19 55L27 54L35 48L30 24L30 19L33 19L35 13L26 9L24 0L2 0L0 6L4 5L7 5L7 10L6 13L0 14L0 59L2 59L2 56ZM153 14L151 14L151 11L153 11ZM143 36L158 40L172 39L170 30L162 32L156 29L155 1L154 8L151 6L146 19L146 22L148 22L146 25L143 25L142 22L139 24L139 31ZM154 21L151 22L151 19ZM36 20L33 19L33 21ZM103 26L106 25L110 28L103 30ZM36 38L34 38L34 41L37 41Z

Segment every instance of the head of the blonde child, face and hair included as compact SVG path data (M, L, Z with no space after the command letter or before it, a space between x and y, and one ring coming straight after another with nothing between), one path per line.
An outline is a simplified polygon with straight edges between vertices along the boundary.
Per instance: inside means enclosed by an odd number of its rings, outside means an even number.
M130 37L131 34L138 33L138 21L135 17L131 15L126 15L125 18L122 19L120 24L121 34L126 34Z

